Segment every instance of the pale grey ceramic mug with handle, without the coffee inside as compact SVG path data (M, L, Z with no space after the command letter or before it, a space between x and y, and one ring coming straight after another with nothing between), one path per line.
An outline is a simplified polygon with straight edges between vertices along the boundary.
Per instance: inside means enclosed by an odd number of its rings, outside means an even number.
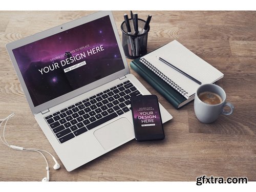
M212 92L219 95L222 102L219 104L207 104L199 99L199 94L203 92ZM224 106L229 106L230 111L224 110ZM203 84L200 86L195 95L194 110L199 121L202 123L212 123L218 119L219 115L231 115L234 106L230 102L226 102L225 91L216 84Z

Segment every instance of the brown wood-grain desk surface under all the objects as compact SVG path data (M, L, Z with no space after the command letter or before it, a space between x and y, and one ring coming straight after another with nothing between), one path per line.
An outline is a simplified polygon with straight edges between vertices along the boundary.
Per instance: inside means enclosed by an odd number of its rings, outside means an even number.
M15 112L6 129L10 144L41 148L56 155L30 111L5 45L92 12L0 12L0 118ZM128 12L113 12L120 37L123 14ZM63 165L57 171L51 169L51 180L196 181L199 176L212 175L256 181L256 12L137 12L144 19L147 14L153 15L148 51L177 39L224 73L217 84L235 106L234 114L202 124L195 117L194 102L176 110L131 70L173 115L173 120L164 124L166 138L158 142L132 140L70 173ZM0 154L0 181L40 181L46 177L40 154L14 151L2 143ZM54 163L48 159L51 168Z

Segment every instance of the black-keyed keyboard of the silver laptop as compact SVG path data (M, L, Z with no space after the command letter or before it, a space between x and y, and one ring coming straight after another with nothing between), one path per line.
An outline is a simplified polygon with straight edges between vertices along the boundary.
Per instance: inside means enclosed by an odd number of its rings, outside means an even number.
M130 98L137 95L141 94L128 80L57 111L45 120L59 142L63 143L129 112Z

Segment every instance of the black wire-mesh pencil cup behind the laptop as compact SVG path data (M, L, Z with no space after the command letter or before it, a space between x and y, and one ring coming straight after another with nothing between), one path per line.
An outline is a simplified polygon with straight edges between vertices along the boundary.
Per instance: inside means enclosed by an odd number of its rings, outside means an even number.
M131 34L127 33L125 22L121 24L122 30L122 46L125 57L129 59L136 59L147 53L147 34L150 31L150 26L143 32L145 26L145 20L138 18L139 33L136 35L133 21L129 19L131 26ZM142 33L143 32L143 33Z

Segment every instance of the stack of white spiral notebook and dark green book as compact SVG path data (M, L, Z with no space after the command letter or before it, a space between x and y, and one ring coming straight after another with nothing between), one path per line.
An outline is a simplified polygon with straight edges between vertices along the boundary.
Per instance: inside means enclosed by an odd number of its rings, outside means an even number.
M201 81L202 84L214 83L223 77L223 73L189 51L177 40L131 61L131 68L176 109L194 100L196 90L200 85L167 66L158 59L159 57Z

